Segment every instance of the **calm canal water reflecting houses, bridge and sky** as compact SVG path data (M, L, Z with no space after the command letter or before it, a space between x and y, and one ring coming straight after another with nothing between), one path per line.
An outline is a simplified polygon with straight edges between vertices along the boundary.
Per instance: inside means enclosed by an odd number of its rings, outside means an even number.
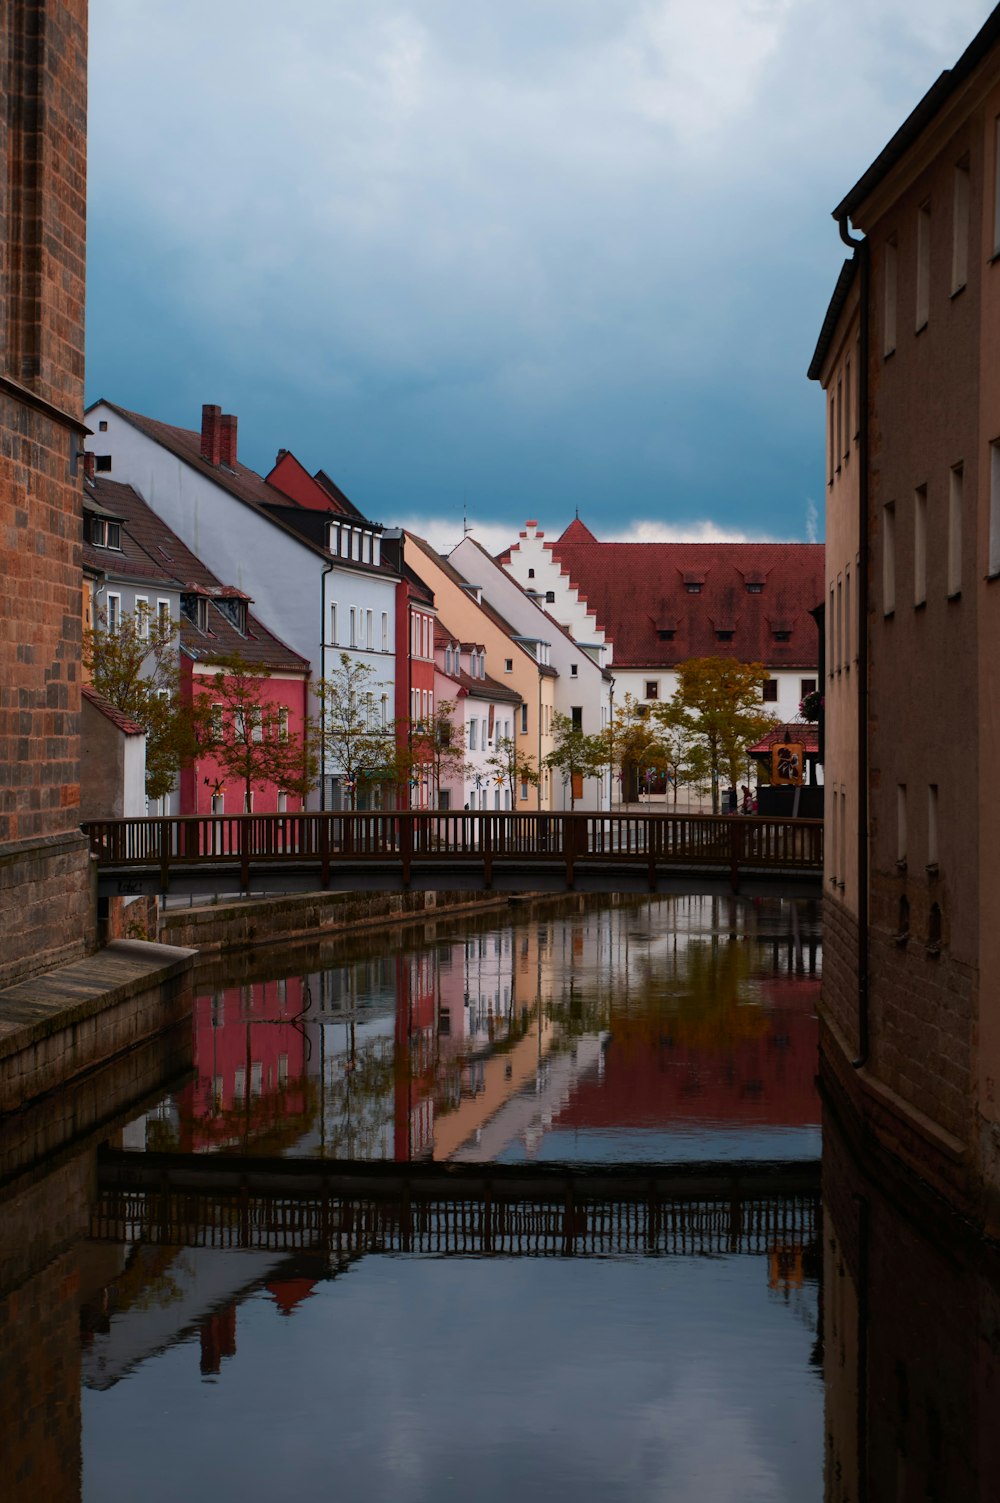
M8 1177L9 1495L1000 1495L992 1267L829 1123L821 1211L820 971L708 897L208 969L192 1069Z

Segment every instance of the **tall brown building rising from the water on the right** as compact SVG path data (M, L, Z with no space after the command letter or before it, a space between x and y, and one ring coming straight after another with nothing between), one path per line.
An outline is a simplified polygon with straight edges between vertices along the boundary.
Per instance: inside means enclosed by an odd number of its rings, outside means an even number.
M833 216L823 1069L845 1121L995 1234L1000 8Z

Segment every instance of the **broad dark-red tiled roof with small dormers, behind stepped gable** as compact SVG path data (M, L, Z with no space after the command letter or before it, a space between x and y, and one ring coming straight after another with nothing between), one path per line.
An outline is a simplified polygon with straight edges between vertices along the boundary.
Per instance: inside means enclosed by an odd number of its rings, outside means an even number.
M824 598L821 543L564 538L549 544L552 558L612 639L615 667L695 657L815 667L809 612Z

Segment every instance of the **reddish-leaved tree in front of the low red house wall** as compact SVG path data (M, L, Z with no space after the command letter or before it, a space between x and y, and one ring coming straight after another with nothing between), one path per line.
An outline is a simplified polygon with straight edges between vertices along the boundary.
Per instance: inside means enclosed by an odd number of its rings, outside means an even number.
M308 721L302 733L289 729L287 708L266 700L271 669L239 654L212 660L218 669L211 690L197 694L202 747L212 753L226 777L244 789L244 809L253 791L277 788L305 798L316 783L319 759Z

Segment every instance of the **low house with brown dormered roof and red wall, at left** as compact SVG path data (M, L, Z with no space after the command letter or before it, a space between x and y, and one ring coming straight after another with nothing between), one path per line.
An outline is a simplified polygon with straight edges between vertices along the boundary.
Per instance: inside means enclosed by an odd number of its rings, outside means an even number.
M253 714L259 727L275 721L289 736L302 736L308 661L275 637L250 610L253 601L206 568L131 485L89 478L90 455L86 469L83 562L95 627L114 634L126 616L135 621L140 637L149 637L153 621L176 627L180 694L188 702L202 696L218 699L220 714L220 660L242 658L260 666L266 675L260 703L235 712ZM301 807L295 795L269 782L256 783L250 798L257 813L292 813ZM147 812L245 813L245 803L244 788L233 786L206 748L180 771L173 794Z

